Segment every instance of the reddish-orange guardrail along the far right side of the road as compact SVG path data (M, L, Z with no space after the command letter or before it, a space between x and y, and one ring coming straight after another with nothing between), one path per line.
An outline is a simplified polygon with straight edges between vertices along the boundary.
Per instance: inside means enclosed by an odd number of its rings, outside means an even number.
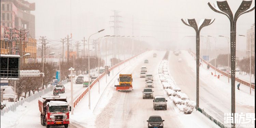
M192 53L192 54L196 55L193 51L190 51L190 50L189 50L189 53ZM214 66L211 65L210 63L208 63L208 62L206 62L205 60L203 60L201 57L200 57L200 59L202 60L202 62L204 62L205 64L209 65L212 69L214 69L214 70L216 69L216 71L219 72L220 74L222 74L222 75L224 75L224 76L226 76L226 77L231 78L231 75L225 73L225 72L222 71L222 70L219 70L218 68L214 67ZM250 87L250 83L249 83L249 82L246 82L246 81L244 81L244 80L241 80L241 79L239 79L239 78L237 78L237 77L235 78L235 80L236 80L237 82L241 83L241 84L244 84L244 85ZM255 89L255 85L254 85L254 84L251 84L251 87L252 87L252 89Z

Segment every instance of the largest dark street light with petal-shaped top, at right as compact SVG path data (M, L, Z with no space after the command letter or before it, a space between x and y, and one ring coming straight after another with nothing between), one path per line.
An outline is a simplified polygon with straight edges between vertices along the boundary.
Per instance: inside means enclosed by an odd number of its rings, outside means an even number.
M236 26L237 19L242 14L251 12L255 9L255 6L251 7L252 1L242 1L238 10L233 16L233 13L228 5L227 1L217 1L214 7L208 2L209 7L217 13L223 14L228 17L230 21L230 53L231 53L231 113L234 118L234 113L236 112L236 101L235 101L235 79L236 79ZM251 7L251 8L250 8ZM232 123L232 127L235 124Z

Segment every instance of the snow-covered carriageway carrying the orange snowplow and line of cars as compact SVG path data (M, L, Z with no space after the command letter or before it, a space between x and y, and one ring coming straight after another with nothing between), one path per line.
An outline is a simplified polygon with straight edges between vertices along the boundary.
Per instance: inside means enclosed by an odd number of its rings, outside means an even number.
M157 58L153 58L153 53L157 53ZM98 114L95 121L96 128L129 128L129 127L147 127L146 120L151 115L160 115L165 122L165 128L183 128L183 127L217 127L209 119L203 117L200 113L193 113L185 115L177 110L172 103L168 101L167 111L153 109L153 99L142 99L142 91L145 87L145 78L140 78L140 68L145 65L147 73L154 76L154 96L163 95L167 100L169 98L163 90L158 80L158 66L165 54L165 51L154 51L147 54L145 59L149 63L144 64L144 59L138 60L138 64L133 64L129 70L121 71L121 74L132 74L133 77L133 91L131 92L117 92L114 85L108 86L108 93L103 94L103 97L110 98L108 105L95 114ZM117 84L117 81L115 82ZM104 103L100 100L99 104Z

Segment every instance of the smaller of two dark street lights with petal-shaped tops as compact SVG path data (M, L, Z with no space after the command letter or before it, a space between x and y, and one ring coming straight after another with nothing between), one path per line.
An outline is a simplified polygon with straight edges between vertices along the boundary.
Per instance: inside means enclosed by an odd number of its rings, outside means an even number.
M199 22L199 28L197 27L197 23L195 19L181 19L181 21L195 29L196 31L196 68L197 68L197 80L196 80L196 109L199 109L199 52L200 52L200 31L203 27L209 26L213 23L215 19L201 19Z

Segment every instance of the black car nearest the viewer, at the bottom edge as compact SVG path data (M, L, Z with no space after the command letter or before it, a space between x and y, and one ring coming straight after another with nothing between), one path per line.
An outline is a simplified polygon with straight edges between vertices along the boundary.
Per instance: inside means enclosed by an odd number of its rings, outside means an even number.
M148 128L163 128L163 122L165 120L162 120L162 117L159 115L152 115L147 120L147 127Z

